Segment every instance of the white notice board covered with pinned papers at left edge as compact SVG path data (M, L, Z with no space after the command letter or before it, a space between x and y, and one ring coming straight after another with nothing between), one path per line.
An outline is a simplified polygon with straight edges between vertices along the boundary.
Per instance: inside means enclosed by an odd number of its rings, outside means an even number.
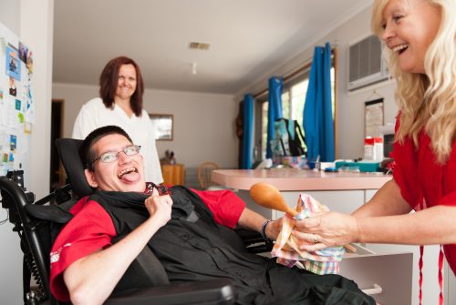
M34 123L33 53L0 23L0 176L26 167Z

